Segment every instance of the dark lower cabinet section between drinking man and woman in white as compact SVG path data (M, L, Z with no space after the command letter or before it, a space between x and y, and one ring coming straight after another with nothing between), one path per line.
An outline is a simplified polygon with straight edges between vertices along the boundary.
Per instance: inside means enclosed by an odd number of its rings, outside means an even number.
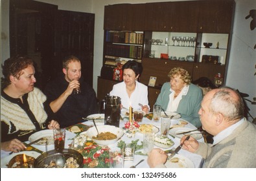
M109 94L113 89L113 85L119 83L119 81L115 80L106 80L104 78L98 77L98 85L97 85L97 99L104 100L106 94Z

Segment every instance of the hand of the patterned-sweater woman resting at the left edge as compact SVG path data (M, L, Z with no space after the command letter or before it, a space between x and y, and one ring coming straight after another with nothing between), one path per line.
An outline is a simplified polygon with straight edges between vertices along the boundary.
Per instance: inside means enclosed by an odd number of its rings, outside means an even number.
M17 139L13 139L8 142L1 142L1 149L4 151L12 151L14 153L17 153L19 151L27 149L27 147L25 146L25 144L23 144L23 142Z

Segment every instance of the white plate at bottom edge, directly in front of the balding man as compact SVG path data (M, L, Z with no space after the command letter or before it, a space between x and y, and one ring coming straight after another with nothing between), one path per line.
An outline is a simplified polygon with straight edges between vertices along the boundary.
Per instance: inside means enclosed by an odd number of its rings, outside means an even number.
M179 158L179 162L170 162L172 158ZM172 158L170 160L167 160L167 162L165 163L165 166L167 168L194 168L193 162L189 160L189 158L186 158L185 156L175 154L174 157Z

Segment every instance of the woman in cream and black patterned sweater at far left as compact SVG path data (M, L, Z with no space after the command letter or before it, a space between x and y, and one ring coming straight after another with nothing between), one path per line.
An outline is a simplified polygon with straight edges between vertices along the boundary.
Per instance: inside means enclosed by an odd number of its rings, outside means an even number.
M49 119L46 96L34 87L36 78L33 61L25 57L6 59L1 90L1 149L21 151L23 142L41 129L59 128L58 122Z

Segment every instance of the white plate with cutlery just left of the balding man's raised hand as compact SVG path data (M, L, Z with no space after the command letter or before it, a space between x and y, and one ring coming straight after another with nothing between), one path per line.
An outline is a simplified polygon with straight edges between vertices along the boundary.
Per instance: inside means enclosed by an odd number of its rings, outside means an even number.
M170 129L169 134L173 135L177 138L182 138L184 135L191 135L194 139L200 140L202 138L202 134L200 133L200 131L192 131L192 130L194 130L194 129L191 129L188 127L175 127L175 128ZM185 133L185 134L177 134L177 133L182 133L185 131L192 131L192 132Z

